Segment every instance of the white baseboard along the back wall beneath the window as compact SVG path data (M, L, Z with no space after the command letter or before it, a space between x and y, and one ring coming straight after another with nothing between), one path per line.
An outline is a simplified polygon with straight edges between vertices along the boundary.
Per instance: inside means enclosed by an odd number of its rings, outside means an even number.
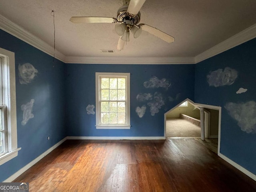
M67 139L73 140L164 140L165 137L80 137L68 136Z

